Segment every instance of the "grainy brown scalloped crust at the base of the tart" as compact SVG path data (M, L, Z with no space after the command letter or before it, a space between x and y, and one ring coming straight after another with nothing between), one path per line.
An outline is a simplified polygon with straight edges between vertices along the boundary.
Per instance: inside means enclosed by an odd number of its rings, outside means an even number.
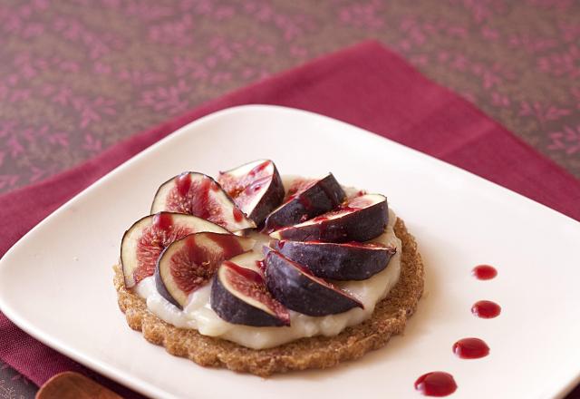
M370 319L344 329L338 336L302 338L261 350L202 336L196 330L171 326L150 313L141 297L125 289L121 269L115 266L119 307L129 326L141 331L145 339L165 346L171 355L187 357L198 365L225 367L264 377L290 370L332 367L386 345L391 336L402 332L407 318L417 307L423 292L423 264L417 243L401 219L397 219L394 230L402 241L399 282L377 304Z

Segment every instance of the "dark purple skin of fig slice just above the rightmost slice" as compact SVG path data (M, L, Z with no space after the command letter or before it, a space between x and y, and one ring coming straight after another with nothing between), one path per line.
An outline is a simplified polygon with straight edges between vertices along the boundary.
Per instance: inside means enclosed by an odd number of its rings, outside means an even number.
M292 241L364 242L380 236L389 222L387 200L363 209L353 209L336 219L313 219L313 224L280 229L275 239Z

